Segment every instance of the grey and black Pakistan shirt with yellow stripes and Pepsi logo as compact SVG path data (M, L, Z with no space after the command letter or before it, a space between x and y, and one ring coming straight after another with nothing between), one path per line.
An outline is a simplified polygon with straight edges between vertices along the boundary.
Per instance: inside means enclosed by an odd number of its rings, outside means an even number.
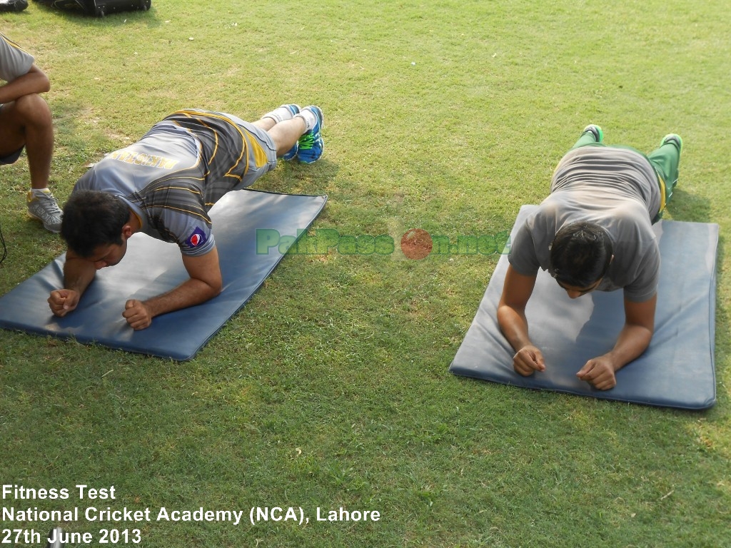
M200 256L215 246L208 210L276 165L264 130L225 113L181 110L142 139L99 161L75 190L114 194L142 222L142 232Z

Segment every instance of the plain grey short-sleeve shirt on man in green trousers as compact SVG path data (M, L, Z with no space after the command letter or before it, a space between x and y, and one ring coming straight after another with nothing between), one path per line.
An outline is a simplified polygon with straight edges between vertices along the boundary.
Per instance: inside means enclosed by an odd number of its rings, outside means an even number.
M550 243L564 225L589 221L609 232L614 259L599 291L624 289L633 302L656 292L660 253L651 219L659 210L659 181L643 154L587 146L570 151L553 174L551 194L518 227L510 264L522 275L550 267Z

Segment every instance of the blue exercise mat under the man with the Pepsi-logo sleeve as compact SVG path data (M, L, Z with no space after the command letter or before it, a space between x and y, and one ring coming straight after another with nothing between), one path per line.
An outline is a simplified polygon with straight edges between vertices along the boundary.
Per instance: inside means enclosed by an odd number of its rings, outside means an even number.
M50 292L63 286L65 255L61 255L0 297L0 327L72 337L81 343L164 358L191 359L281 261L283 255L278 248L269 247L271 235L278 232L294 240L306 232L326 201L325 196L251 190L226 194L210 213L223 291L202 305L157 316L145 330L132 330L121 316L126 300L145 300L166 292L185 281L188 274L177 245L139 233L130 238L127 253L118 265L96 273L79 307L68 316L53 316L47 302ZM269 236L266 242L260 242L259 253L257 229L267 230Z

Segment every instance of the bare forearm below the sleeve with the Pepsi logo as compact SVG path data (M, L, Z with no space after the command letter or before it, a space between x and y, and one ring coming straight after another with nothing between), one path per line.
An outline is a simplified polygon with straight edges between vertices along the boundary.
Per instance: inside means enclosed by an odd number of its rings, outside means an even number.
M175 289L145 301L131 299L126 302L122 316L130 327L145 329L155 316L199 305L221 292L223 280L216 248L201 256L183 255L183 265L190 278Z

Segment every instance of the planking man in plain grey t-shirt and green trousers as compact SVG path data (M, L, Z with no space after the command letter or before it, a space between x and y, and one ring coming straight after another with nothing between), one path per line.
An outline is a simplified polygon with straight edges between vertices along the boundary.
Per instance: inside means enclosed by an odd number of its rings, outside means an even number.
M515 349L513 368L529 376L546 368L526 320L538 269L569 297L624 291L625 322L612 350L589 359L577 377L596 389L616 386L615 373L640 356L654 332L660 253L652 224L678 183L683 142L668 134L645 156L603 144L594 124L558 163L550 195L518 227L498 305L498 323Z

